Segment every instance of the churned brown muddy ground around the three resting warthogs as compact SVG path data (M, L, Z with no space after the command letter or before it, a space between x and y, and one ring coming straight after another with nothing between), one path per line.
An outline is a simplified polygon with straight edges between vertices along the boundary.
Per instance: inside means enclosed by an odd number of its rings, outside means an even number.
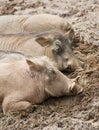
M79 75L84 92L6 116L1 110L0 130L99 130L99 1L0 0L0 15L38 13L56 14L72 24L73 51L84 61L84 69L67 75Z

